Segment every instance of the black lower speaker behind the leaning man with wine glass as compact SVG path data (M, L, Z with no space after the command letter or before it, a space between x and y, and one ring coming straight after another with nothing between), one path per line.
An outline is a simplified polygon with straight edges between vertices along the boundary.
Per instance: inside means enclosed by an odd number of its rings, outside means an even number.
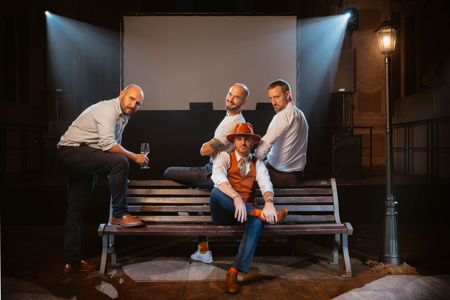
M58 165L58 145L60 135L44 135L42 138L42 179L48 180L67 180Z

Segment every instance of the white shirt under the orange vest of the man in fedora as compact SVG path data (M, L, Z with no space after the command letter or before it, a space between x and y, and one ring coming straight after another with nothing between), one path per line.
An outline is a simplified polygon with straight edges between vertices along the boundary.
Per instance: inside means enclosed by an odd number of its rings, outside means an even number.
M241 156L238 154L237 151L234 151L234 153L231 153L231 155L236 155L236 161L239 161L241 159ZM252 164L250 162L250 154L247 157L244 157L245 159L245 167L246 167L246 175L250 171ZM214 186L217 188L219 184L222 182L228 182L228 178L226 177L228 173L228 168L231 165L231 160L229 158L228 152L220 152L216 156L216 159L213 161L212 165L212 174L211 174L211 180L214 182ZM257 159L256 161L256 178L259 188L261 189L262 194L266 192L272 192L274 193L274 188L272 186L272 183L270 182L269 172L266 169L266 166L261 161L261 159Z

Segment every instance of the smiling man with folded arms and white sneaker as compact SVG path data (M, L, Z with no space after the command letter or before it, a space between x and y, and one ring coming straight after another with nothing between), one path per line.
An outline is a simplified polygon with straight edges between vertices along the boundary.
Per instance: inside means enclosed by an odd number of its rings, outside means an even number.
M246 85L235 83L229 88L225 98L225 118L217 126L214 138L204 143L200 148L200 154L209 156L210 160L203 167L170 167L164 172L168 180L187 184L194 188L212 189L211 180L212 160L217 153L234 149L233 143L226 139L226 135L232 133L236 124L245 122L241 114L242 107L247 103L248 89ZM179 213L188 214L188 213ZM204 263L212 263L212 254L208 246L207 236L198 236L198 250L191 255L193 260L201 260Z

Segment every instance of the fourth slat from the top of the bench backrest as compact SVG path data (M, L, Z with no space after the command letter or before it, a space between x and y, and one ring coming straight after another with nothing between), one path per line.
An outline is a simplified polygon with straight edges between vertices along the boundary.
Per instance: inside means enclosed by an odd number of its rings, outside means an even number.
M287 207L289 212L294 211L333 211L333 205L275 205L276 210L282 209L283 207ZM201 205L201 206L128 206L128 211L132 212L178 212L178 211L210 211L209 206Z

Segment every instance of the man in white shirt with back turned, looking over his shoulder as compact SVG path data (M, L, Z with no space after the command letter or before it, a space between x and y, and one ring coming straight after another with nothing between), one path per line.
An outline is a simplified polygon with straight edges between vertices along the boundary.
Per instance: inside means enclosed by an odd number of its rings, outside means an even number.
M284 80L273 81L267 88L277 114L255 150L264 161L275 188L296 184L303 179L308 143L308 123L292 101L291 88Z

